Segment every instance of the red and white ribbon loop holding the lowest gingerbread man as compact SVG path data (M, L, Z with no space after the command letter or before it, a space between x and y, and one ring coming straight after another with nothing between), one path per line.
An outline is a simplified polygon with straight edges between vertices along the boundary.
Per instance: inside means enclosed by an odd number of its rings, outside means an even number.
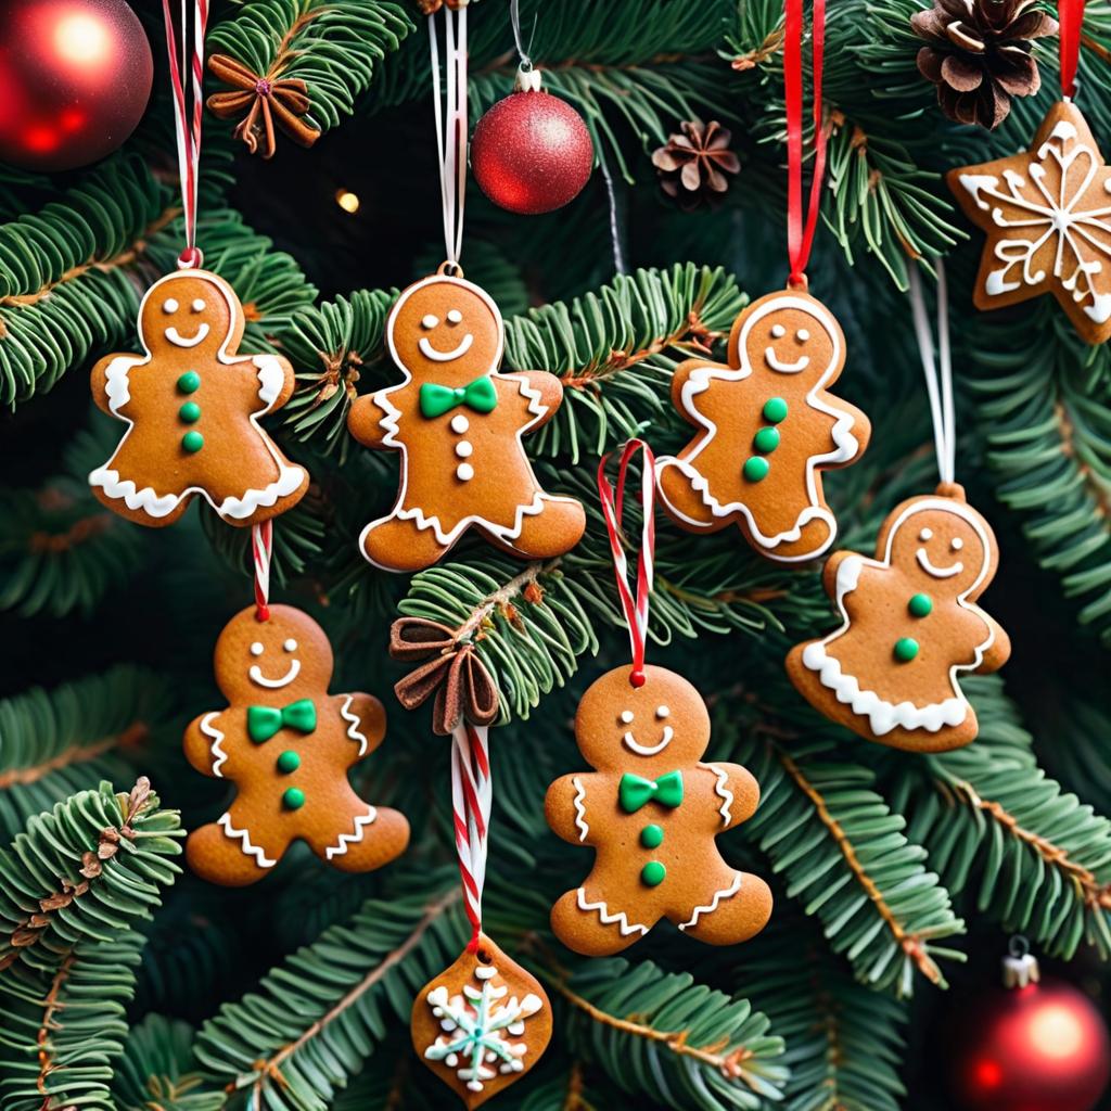
M641 527L640 554L637 559L637 593L629 587L629 560L621 542L621 508L624 503L624 482L629 463L638 451L644 452L644 469L640 478L640 503L644 512ZM610 536L610 551L613 553L613 571L618 580L618 597L625 623L629 625L629 643L632 648L633 687L644 684L644 648L648 641L648 600L652 593L652 568L655 554L655 457L643 440L629 440L621 452L618 467L618 486L613 487L605 477L605 464L610 454L603 456L598 464L598 496L602 501L602 516Z

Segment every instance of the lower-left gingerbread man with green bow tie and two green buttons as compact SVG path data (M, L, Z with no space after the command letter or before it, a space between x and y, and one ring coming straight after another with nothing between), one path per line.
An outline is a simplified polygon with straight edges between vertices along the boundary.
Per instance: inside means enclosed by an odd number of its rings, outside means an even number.
M216 644L216 678L230 703L186 730L189 762L239 793L219 821L187 843L190 867L212 883L261 880L298 838L347 872L399 857L409 822L354 793L348 769L386 734L370 694L329 694L332 649L323 630L291 605L253 607L228 622Z

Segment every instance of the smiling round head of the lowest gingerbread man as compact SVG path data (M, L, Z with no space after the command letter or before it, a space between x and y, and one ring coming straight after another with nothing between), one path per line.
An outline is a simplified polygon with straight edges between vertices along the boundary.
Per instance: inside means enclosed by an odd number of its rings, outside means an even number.
M629 682L630 671L608 671L582 697L574 719L582 754L599 771L647 773L697 761L710 741L701 694L664 668L647 667L641 687Z

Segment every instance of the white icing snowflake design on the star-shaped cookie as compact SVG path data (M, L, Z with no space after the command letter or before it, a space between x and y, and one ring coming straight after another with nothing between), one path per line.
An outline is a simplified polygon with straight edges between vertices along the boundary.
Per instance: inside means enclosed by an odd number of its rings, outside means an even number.
M1090 320L1103 324L1111 320L1107 264L1111 260L1111 206L1101 207L1100 201L1108 198L1111 182L1087 127L1081 137L1075 118L1061 118L1029 152L1024 174L1008 166L992 173L989 163L963 171L960 183L979 209L990 211L991 222L1007 232L993 249L1000 264L984 274L989 297L1035 287L1052 277ZM1102 189L1097 186L1089 196L1101 171ZM1022 231L1015 234L1013 229ZM1051 276L1045 272L1044 257L1039 261L1047 244L1053 252Z

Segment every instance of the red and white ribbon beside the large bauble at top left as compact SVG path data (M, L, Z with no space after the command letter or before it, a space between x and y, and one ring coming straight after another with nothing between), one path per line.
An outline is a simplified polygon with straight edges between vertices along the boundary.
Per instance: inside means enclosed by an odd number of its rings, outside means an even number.
M201 159L201 120L204 111L204 32L208 28L209 0L181 0L181 44L173 23L171 0L162 0L166 18L166 51L173 87L173 130L178 139L178 177L181 179L181 208L186 218L186 249L178 257L182 269L203 263L197 249L197 182ZM193 10L192 50L189 50L189 8ZM184 74L184 76L183 76ZM192 78L191 82L189 77ZM192 92L190 112L189 91Z

